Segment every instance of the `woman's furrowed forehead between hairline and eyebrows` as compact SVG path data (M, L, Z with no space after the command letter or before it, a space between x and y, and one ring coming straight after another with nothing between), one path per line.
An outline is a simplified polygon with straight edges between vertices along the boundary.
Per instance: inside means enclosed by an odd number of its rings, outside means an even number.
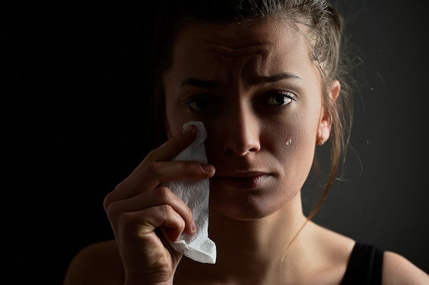
M304 27L291 21L270 18L252 23L186 23L177 31L173 46L173 68L219 73L219 66L242 72L283 72L294 64L312 64Z

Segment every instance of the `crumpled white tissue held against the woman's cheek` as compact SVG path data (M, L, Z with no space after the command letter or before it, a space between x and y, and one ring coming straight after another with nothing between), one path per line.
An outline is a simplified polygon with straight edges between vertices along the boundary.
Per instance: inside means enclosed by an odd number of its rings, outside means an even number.
M189 124L197 127L197 137L173 160L207 163L206 148L204 147L204 141L207 138L206 128L203 122L197 121L187 122L183 128ZM166 186L191 208L195 226L197 226L197 232L194 235L182 233L177 241L169 241L169 243L177 252L188 258L214 264L216 262L216 245L208 238L209 180L180 180L168 182Z

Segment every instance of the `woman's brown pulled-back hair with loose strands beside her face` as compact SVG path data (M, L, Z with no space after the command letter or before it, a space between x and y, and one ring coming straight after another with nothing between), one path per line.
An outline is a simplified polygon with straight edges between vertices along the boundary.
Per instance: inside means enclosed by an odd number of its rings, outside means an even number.
M331 123L330 174L323 182L323 195L315 205L308 219L319 210L339 167L345 159L345 152L352 127L352 97L347 84L347 58L343 56L343 18L325 0L160 0L156 14L153 50L151 54L151 75L154 79L154 94L150 110L156 122L152 130L157 144L167 140L164 131L164 83L162 74L173 61L173 44L177 30L189 22L210 22L220 24L242 24L261 21L264 18L284 18L293 24L309 44L310 58L319 67L322 79L323 107ZM304 27L304 29L302 29ZM336 100L330 98L333 80L341 83L341 92ZM313 167L317 167L317 157Z

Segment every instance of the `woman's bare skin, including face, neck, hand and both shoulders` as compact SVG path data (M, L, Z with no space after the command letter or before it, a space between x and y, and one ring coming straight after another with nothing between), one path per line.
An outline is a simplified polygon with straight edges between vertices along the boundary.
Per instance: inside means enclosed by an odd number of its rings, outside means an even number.
M106 197L116 239L83 249L64 285L341 284L354 241L302 212L317 141L330 134L306 40L277 18L193 23L179 31L173 52L164 73L170 139ZM332 100L339 90L333 81ZM182 131L189 120L206 125L209 165L171 161L195 138L195 128ZM189 208L160 187L184 178L210 178L216 264L182 257L165 240L195 230ZM383 274L383 284L429 280L390 252Z

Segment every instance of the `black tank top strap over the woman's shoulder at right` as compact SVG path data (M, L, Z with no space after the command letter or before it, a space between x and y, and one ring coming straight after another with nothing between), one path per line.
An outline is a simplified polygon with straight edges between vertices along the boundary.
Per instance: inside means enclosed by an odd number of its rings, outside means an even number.
M384 251L375 245L354 245L341 285L381 285Z

